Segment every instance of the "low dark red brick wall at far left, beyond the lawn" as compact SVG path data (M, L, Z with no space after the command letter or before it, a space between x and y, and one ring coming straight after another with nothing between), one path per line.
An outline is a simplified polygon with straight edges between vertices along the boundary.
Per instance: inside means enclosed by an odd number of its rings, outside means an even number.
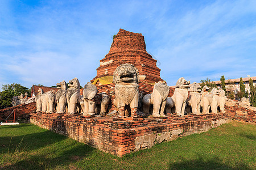
M29 113L36 111L36 103L20 104L15 107L0 109L0 122L5 121L9 114L14 111L14 109L16 109L16 120L20 118L28 118ZM14 114L11 114L8 121L13 121L13 116Z

